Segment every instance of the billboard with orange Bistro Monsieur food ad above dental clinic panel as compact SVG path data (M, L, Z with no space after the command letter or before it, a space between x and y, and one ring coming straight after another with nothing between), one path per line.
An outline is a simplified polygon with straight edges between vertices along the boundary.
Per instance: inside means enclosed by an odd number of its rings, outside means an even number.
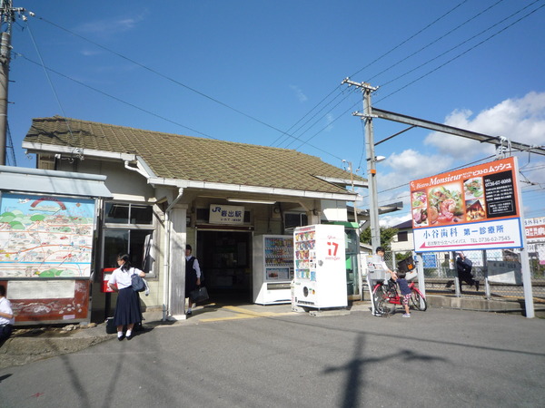
M522 248L516 158L411 181L416 252Z

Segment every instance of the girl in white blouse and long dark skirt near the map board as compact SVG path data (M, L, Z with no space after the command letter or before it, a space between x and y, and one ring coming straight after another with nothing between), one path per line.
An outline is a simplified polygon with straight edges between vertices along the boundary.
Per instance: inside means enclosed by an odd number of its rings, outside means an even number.
M129 256L126 254L117 257L117 265L119 267L114 270L108 282L112 290L118 292L114 325L117 326L117 339L119 341L125 337L127 340L131 340L133 338L134 324L142 322L140 298L138 293L133 290L131 277L134 274L145 277L145 274L140 269L131 267ZM127 326L126 334L123 333L124 325Z

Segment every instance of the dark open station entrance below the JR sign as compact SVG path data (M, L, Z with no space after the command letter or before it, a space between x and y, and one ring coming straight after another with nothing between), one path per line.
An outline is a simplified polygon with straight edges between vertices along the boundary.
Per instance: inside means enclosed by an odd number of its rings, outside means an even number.
M211 302L252 303L252 232L199 230L195 256Z

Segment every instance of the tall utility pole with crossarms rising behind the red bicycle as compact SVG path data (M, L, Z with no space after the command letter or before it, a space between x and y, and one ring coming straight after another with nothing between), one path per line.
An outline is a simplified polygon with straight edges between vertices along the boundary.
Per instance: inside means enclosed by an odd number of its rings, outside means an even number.
M372 118L376 115L372 114L371 92L379 89L373 87L369 83L354 83L346 78L342 84L348 83L362 89L363 92L363 113L353 112L354 116L360 116L362 121L365 121L365 153L367 157L367 183L369 188L369 220L371 223L371 245L373 250L381 246L381 227L379 226L379 199L377 195L377 158L374 154L374 136L372 131Z

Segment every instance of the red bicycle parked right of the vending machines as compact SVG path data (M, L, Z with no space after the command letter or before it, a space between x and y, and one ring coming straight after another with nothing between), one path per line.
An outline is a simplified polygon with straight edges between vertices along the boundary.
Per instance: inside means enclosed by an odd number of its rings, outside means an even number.
M411 282L409 287L411 288L411 305L415 309L425 312L428 308L426 296L421 293L414 282ZM375 313L379 316L388 316L394 313L395 306L390 305L402 305L401 300L397 285L393 281L389 281L389 283L379 282L372 289L372 304Z

